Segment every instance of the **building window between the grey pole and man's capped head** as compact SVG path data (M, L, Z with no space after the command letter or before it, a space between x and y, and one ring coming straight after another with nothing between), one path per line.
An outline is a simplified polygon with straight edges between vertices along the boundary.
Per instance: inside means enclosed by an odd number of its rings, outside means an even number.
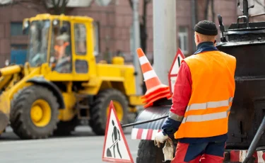
M188 31L187 27L179 26L179 48L184 55L189 52Z

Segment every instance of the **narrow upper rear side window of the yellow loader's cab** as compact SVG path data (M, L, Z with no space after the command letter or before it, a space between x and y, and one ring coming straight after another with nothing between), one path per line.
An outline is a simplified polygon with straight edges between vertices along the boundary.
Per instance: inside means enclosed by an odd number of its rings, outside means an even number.
M86 55L86 26L81 23L74 25L76 55Z

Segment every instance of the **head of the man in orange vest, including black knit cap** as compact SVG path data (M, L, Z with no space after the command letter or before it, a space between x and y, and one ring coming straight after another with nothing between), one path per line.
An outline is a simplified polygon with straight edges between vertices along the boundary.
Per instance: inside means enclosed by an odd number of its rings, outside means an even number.
M203 42L213 42L216 40L218 30L212 21L200 21L194 27L194 38L196 45Z

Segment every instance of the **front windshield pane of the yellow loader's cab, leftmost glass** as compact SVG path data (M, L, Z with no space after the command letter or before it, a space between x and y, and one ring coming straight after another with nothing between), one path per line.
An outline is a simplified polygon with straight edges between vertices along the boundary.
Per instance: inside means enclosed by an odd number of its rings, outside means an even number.
M49 27L49 20L33 21L30 24L27 60L32 67L47 62Z

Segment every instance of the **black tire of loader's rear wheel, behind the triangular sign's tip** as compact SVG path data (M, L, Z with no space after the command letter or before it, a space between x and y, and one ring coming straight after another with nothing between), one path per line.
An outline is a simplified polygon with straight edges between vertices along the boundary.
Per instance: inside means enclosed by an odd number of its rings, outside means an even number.
M90 127L96 135L105 135L107 122L106 108L110 101L118 101L123 108L122 124L128 123L128 101L122 92L116 89L105 89L95 97L90 109Z

